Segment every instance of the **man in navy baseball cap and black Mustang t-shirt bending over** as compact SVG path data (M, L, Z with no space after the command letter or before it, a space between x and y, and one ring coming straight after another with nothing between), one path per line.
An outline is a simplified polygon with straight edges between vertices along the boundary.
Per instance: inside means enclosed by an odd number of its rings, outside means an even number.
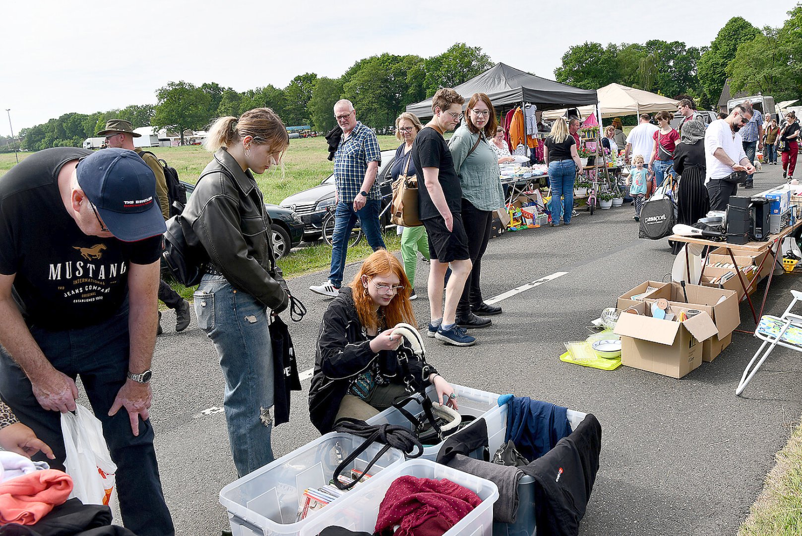
M0 398L63 469L81 376L139 536L174 534L148 420L164 230L153 172L127 149L46 149L0 177Z

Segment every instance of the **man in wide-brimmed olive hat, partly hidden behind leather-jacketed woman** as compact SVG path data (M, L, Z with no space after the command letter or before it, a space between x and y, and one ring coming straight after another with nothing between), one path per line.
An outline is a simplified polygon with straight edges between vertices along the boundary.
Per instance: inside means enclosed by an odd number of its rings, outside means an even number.
M156 197L159 197L159 208L165 220L170 217L170 200L167 193L167 179L164 177L164 169L161 167L159 160L156 156L149 151L143 151L139 147L134 147L134 138L142 136L134 132L134 126L131 121L124 119L110 119L106 121L106 128L98 132L98 136L106 136L106 143L109 147L119 147L135 151L136 154L142 157L145 164L153 170L153 175L156 176ZM189 326L190 320L190 307L187 300L181 298L172 287L164 280L159 281L159 299L164 302L167 307L175 309L176 311L176 331L184 331ZM161 313L159 313L159 326L156 331L157 335L161 335Z

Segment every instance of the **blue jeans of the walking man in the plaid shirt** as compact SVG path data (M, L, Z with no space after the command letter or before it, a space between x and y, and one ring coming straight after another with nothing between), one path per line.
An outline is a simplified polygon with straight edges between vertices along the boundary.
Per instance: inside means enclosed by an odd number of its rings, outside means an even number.
M367 243L373 250L385 249L382 231L379 229L379 209L381 201L378 199L368 199L365 206L354 212L353 201L339 201L334 212L334 236L331 237L331 270L329 281L334 286L342 286L342 272L346 269L346 254L348 253L348 240L351 230L359 224L362 232L367 238Z

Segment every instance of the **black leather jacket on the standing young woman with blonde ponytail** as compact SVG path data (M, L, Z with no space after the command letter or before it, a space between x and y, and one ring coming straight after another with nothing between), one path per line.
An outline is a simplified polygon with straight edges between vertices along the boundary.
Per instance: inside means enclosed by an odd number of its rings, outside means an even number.
M280 313L290 301L277 267L271 271L270 217L250 170L242 171L225 148L201 173L184 212L188 246L203 246L213 266L243 292Z

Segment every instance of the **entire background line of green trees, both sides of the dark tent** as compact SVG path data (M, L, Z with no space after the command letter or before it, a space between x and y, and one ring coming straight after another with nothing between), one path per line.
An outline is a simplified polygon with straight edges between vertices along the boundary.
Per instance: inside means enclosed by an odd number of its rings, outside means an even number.
M699 108L714 108L727 78L732 91L773 95L778 101L802 95L802 4L788 12L780 28L759 30L742 17L731 18L709 47L651 39L646 43L582 43L570 47L554 71L556 79L585 89L622 83L670 97L690 95ZM339 78L298 75L286 87L268 84L235 91L218 83L196 86L169 82L156 91L156 104L132 105L94 114L67 113L19 132L22 148L38 150L80 145L121 117L135 127L152 125L174 132L201 130L220 116L251 108L273 108L290 125L309 124L325 132L334 127L332 108L350 99L358 117L371 127L391 125L407 104L453 87L491 67L480 47L456 43L442 54L382 54L361 59ZM13 148L6 140L0 150Z

